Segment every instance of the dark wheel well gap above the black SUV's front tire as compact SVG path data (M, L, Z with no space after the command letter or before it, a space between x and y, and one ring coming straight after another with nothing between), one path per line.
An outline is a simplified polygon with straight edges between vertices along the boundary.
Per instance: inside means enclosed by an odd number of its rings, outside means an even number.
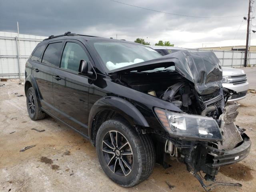
M112 111L112 110L102 110L102 111L98 112L96 114L96 116L94 117L93 122L92 122L92 130L91 130L92 131L91 132L92 143L94 146L96 145L95 144L96 135L97 135L98 129L100 128L101 124L103 122L105 122L106 120L109 120L112 118L122 118L123 120L126 120L124 118L124 116L122 116L121 114L118 114L117 112Z

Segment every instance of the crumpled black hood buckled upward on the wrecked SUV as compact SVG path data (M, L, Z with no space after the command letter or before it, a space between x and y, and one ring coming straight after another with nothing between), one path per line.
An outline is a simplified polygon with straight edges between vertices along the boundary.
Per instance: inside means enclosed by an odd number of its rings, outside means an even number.
M111 73L147 71L175 66L176 72L194 83L199 94L209 94L222 86L222 67L213 52L178 51L166 56L111 70Z

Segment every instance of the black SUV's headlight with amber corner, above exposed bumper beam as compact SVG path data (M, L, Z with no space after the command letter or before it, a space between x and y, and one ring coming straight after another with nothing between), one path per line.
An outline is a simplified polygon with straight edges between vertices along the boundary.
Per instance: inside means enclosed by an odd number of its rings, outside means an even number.
M219 126L212 117L180 114L154 108L156 115L170 135L188 140L221 141Z

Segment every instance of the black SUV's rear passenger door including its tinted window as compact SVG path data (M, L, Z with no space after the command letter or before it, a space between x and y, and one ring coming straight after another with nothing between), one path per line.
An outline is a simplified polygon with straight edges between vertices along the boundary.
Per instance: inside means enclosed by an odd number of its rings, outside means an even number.
M43 50L46 47L46 49L44 50L44 53L41 54L40 59L34 64L34 78L40 93L42 107L51 113L53 112L52 108L54 106L52 95L52 69L59 62L62 44L63 42L51 42L47 47L46 45L41 48L39 47ZM31 60L36 59L33 56L34 54L32 55Z

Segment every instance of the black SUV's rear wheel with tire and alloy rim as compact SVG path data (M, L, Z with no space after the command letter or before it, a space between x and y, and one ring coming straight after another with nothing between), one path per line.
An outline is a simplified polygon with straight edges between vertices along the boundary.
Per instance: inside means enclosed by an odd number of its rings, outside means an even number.
M40 110L36 93L33 87L30 87L26 94L28 115L32 120L40 120L45 117L45 113Z

